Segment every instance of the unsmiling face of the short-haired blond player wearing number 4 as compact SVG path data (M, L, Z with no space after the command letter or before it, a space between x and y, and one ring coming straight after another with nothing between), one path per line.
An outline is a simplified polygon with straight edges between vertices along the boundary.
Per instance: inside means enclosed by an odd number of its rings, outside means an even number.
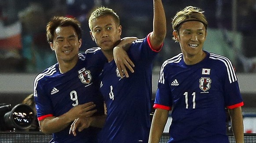
M114 44L121 39L121 25L110 15L101 16L91 24L91 37L104 52L113 52Z

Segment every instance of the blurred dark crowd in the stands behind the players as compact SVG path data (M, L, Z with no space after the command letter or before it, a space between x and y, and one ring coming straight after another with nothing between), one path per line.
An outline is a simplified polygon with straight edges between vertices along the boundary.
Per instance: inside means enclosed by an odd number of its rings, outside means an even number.
M180 52L172 41L171 17L187 5L201 7L208 18L205 48L228 56L238 72L256 72L256 0L162 0L167 36L155 66ZM88 28L88 14L95 7L113 8L124 27L122 37L144 38L152 31L152 0L0 0L0 72L39 73L56 63L46 40L45 26L53 16L76 17L82 24L80 52L95 47ZM211 32L211 33L210 33Z

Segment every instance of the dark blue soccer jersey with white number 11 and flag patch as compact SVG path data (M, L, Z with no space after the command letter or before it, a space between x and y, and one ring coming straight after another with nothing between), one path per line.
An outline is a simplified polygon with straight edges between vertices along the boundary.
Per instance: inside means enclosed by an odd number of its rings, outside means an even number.
M243 105L238 79L229 59L206 53L194 65L180 53L161 66L154 108L172 110L168 143L228 143L225 108Z

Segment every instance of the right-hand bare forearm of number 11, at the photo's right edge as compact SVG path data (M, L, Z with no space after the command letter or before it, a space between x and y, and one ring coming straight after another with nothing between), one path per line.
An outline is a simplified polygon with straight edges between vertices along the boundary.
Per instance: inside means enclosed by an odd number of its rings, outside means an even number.
M244 143L244 126L241 107L230 109L229 111L236 143Z

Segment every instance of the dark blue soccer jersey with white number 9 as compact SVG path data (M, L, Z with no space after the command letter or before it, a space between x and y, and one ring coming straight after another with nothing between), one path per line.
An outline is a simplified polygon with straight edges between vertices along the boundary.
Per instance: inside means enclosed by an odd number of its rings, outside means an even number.
M99 91L99 74L106 58L99 48L88 49L85 54L78 56L76 66L68 72L60 73L59 64L56 63L35 78L34 98L38 120L60 116L76 105L91 101L98 110L95 115L104 114L103 97ZM53 133L52 142L97 143L99 128L89 127L77 132L77 136L69 135L69 128L70 126Z

